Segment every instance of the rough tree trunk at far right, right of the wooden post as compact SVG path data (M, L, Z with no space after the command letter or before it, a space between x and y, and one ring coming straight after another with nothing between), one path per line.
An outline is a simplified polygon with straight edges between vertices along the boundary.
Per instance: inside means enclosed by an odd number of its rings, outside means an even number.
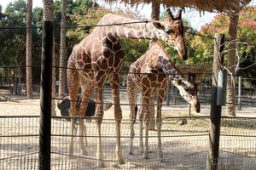
M236 36L237 36L237 25L238 25L238 14L230 14L230 28L229 28L229 58L228 58L228 69L235 75L236 68ZM228 77L227 82L227 104L226 104L226 113L230 116L236 116L235 111L235 77Z

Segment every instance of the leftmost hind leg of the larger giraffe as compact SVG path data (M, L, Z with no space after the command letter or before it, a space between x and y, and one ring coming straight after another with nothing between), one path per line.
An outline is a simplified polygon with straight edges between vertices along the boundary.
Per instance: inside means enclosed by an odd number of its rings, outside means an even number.
M68 65L68 68L73 68L73 65ZM73 69L67 70L67 78L68 78L68 89L69 89L69 96L70 96L70 108L69 108L69 116L71 118L71 139L69 144L69 154L73 156L73 137L74 137L74 127L75 127L75 118L74 116L77 115L76 110L76 98L79 94L79 77L78 72Z

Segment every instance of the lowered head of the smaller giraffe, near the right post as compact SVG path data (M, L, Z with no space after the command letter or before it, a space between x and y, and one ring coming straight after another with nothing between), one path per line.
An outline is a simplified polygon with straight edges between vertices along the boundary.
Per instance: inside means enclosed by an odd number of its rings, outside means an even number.
M178 88L179 94L185 99L197 113L201 111L200 102L198 99L198 87L201 82L189 82L184 80L174 80L173 84Z

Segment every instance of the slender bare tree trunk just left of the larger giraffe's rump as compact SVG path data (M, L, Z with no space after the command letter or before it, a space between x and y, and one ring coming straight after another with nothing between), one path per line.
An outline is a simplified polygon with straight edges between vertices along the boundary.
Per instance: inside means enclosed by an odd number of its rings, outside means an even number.
M63 98L65 95L65 88L67 82L67 51L66 51L66 8L67 8L67 1L61 0L61 42L60 42L60 74L59 74L59 98Z

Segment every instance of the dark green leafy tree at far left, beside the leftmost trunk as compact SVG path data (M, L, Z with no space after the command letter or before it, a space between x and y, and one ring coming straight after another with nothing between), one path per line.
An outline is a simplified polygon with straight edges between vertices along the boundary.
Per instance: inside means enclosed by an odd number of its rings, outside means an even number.
M5 9L5 17L1 25L6 27L26 27L26 2L22 0L9 3ZM2 34L2 57L9 65L14 67L15 94L21 94L21 82L24 82L22 73L26 65L26 31L25 30L4 30ZM1 55L1 54L0 54ZM2 59L1 59L2 60Z

